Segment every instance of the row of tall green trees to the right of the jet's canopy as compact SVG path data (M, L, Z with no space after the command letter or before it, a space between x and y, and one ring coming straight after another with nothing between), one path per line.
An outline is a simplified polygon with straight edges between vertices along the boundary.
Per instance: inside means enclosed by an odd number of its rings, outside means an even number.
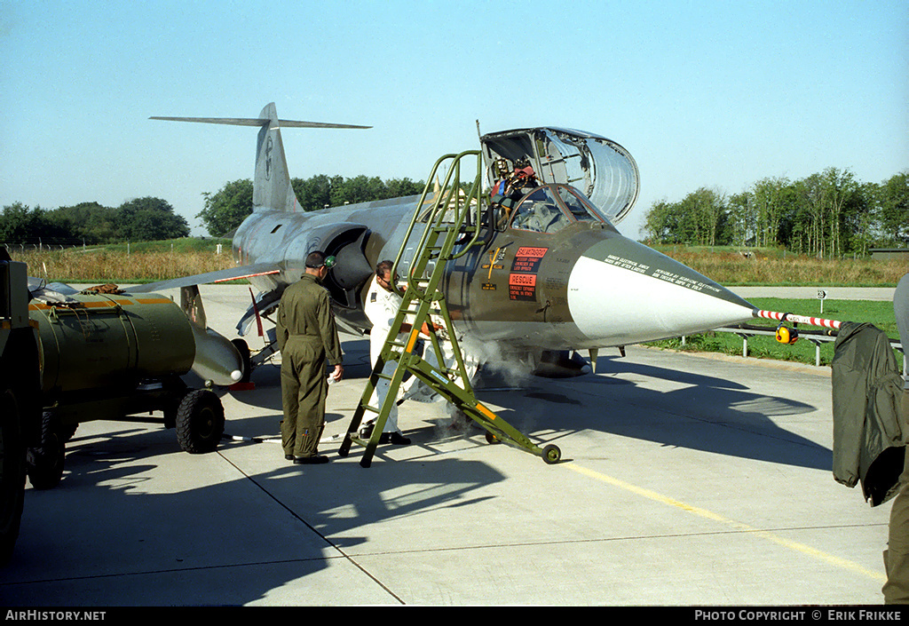
M829 167L794 181L764 178L732 196L701 187L678 202L654 203L644 235L651 243L781 246L817 257L904 246L909 171L876 184Z

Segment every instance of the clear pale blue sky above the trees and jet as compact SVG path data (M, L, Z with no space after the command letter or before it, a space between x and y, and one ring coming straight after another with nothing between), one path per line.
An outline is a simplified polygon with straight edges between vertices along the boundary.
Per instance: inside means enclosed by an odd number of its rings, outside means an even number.
M293 177L424 179L492 132L608 136L641 172L619 225L698 187L909 168L909 4L0 0L0 207L155 196L194 233L252 177L255 129L149 116L374 126L284 131Z

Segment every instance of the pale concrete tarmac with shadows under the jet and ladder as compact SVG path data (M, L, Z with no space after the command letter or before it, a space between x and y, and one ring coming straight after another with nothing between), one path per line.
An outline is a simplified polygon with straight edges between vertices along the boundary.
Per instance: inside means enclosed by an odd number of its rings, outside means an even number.
M248 288L204 287L227 337ZM346 337L325 439L347 429L368 342ZM252 348L261 339L250 338ZM480 399L559 464L405 402L410 446L285 461L277 360L219 391L220 448L88 422L64 479L30 487L6 606L877 604L889 503L831 473L828 369L629 347L596 373L513 372ZM190 377L192 378L192 377ZM198 381L195 381L196 383Z

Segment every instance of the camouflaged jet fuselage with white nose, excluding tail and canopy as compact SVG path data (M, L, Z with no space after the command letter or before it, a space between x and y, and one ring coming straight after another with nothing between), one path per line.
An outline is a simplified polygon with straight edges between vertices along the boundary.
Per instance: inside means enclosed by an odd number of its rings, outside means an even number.
M395 259L417 200L255 213L236 233L235 257L245 265L282 268L250 278L261 291L273 291L300 277L310 251L339 255L339 266L326 279L335 313L350 327L366 330L365 274L378 261ZM482 244L449 264L444 296L455 325L472 342L524 350L605 348L751 318L747 302L623 237L608 220L567 221L556 232L515 227L514 220L505 227L484 227ZM349 269L339 254L345 247L361 251L367 268L360 269L354 278L358 287L347 293L333 279ZM405 252L402 275L410 260Z

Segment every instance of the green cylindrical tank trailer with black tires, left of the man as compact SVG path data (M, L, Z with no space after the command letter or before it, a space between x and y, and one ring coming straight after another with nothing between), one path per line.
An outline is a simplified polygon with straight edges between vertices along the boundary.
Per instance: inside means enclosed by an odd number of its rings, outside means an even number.
M188 452L214 450L224 433L224 409L210 388L243 377L244 358L225 337L205 328L205 316L155 293L78 292L55 284L32 290L29 318L40 339L44 406L41 443L30 450L29 478L55 486L65 441L94 419L163 421ZM190 389L195 372L205 388ZM162 411L163 418L152 417ZM139 416L137 414L145 414Z

